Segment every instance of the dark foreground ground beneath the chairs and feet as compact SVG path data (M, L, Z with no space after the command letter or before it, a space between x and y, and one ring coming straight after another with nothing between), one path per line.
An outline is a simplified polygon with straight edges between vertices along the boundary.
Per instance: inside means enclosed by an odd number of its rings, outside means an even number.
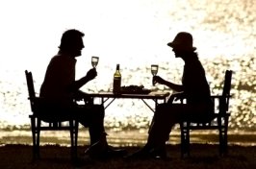
M129 153L133 153L139 147L125 147ZM107 160L93 160L84 156L86 147L79 146L79 160L73 163L70 160L68 147L59 145L41 146L41 159L32 160L32 147L28 145L5 145L0 147L0 169L25 169L25 168L190 168L190 169L254 169L256 168L256 146L229 146L229 154L226 157L218 156L218 145L192 144L191 157L180 157L179 145L168 145L168 159L134 159L127 160L115 157Z

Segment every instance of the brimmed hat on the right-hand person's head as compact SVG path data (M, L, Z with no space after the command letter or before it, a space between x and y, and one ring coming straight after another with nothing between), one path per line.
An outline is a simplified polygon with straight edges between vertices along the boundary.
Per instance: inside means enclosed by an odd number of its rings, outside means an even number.
M194 51L196 47L192 46L192 35L186 32L180 32L175 36L172 42L167 43L169 47L180 48L185 51Z

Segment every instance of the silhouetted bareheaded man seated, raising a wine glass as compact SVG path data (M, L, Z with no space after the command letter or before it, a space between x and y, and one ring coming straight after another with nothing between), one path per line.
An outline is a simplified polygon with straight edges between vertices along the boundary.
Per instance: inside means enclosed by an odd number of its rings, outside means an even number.
M122 151L114 150L107 144L103 106L93 103L78 106L75 102L80 99L87 100L87 94L79 88L97 76L96 69L91 68L85 77L75 81L75 58L81 56L84 48L83 36L84 33L74 29L64 32L60 50L48 64L39 95L46 100L45 109L55 109L51 114L46 114L47 118L59 116L68 119L72 114L83 126L89 127L91 146L88 152L91 156L119 154Z

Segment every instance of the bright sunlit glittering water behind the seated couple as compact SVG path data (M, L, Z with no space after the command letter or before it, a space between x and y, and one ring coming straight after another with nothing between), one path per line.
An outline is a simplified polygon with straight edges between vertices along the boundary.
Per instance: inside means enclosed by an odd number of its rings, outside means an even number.
M0 2L0 129L5 132L1 138L11 135L14 139L29 131L31 109L24 71L33 72L38 91L48 61L68 28L85 33L86 47L77 62L77 78L90 69L91 56L99 57L97 78L82 87L87 92L110 90L116 63L120 63L122 85L152 88L152 63L159 64L158 75L180 83L183 62L175 59L166 43L180 31L192 33L213 94L221 93L224 71L234 71L230 133L255 134L253 0L77 0L61 4L16 0L16 6L13 1ZM70 9L75 10L70 13ZM156 88L168 90L162 85ZM105 126L119 133L135 130L146 134L152 116L153 112L138 100L116 100L106 109Z

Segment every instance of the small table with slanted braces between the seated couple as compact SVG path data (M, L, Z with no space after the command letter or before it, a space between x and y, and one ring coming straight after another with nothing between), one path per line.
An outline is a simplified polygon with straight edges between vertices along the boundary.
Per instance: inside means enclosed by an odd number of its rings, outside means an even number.
M88 94L93 99L100 98L102 105L104 105L107 101L110 100L109 103L106 106L104 106L105 109L107 109L115 101L115 99L141 99L141 101L153 112L155 112L155 109L151 108L149 104L146 103L145 100L153 100L155 102L156 108L160 101L162 101L162 103L166 103L167 98L169 96L169 92L162 91L152 91L149 94L114 94L113 92L107 91Z

